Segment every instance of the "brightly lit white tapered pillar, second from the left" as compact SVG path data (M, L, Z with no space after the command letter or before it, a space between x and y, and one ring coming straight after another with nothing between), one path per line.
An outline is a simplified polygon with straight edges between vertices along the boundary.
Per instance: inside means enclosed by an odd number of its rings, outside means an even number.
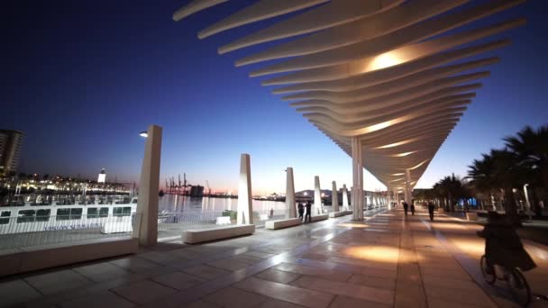
M238 224L253 223L253 199L251 199L251 162L249 154L240 159L240 182L238 183Z

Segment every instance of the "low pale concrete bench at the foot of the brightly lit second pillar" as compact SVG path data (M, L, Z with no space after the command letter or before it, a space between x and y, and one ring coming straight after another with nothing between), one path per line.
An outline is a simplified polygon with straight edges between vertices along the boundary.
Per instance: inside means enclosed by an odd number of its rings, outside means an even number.
M223 227L215 227L203 230L183 231L181 239L187 244L196 244L204 241L223 240L237 236L253 234L254 224L238 224Z

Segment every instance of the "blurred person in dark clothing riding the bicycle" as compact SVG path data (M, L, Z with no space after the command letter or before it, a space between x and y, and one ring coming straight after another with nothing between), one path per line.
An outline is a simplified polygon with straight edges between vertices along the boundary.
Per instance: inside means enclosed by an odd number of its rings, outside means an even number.
M478 231L478 235L485 238L485 257L489 274L494 273L495 264L507 271L516 267L522 271L536 267L512 225L497 212L488 213L488 223L483 231Z

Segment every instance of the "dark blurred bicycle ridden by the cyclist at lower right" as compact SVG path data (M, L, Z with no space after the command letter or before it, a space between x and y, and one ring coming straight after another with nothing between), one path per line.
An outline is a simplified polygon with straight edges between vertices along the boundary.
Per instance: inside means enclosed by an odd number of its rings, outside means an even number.
M494 265L493 268L489 269L485 255L481 256L479 265L481 274L483 274L483 278L489 285L495 284L497 280L505 280L517 303L524 307L531 303L531 289L521 269L514 267L512 270L508 270L498 265Z

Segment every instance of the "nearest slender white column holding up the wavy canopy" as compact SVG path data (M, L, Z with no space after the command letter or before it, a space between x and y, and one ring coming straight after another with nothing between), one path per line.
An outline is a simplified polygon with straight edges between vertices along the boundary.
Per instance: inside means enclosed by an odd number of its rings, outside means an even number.
M363 220L363 162L361 143L358 137L352 137L352 220Z

